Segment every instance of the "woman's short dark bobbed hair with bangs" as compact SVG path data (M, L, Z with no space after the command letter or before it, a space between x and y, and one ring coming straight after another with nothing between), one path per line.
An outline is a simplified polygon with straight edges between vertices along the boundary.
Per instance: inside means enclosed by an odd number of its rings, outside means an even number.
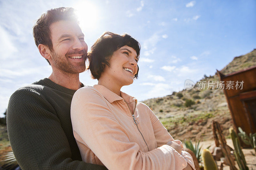
M107 65L110 67L108 61L110 60L113 53L125 45L133 48L136 51L139 60L140 43L127 33L118 35L111 32L105 32L100 36L98 40L96 40L87 56L90 62L88 70L91 71L93 79L99 80L101 73L105 69L105 66ZM138 72L139 67L133 78L138 78Z

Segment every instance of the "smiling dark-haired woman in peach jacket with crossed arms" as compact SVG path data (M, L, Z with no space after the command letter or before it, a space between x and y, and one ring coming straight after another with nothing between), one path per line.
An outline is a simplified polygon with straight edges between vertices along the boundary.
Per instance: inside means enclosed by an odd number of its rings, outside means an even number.
M140 44L128 34L104 33L88 54L98 85L80 88L71 120L83 161L108 169L192 169L192 157L150 108L121 92L138 77Z

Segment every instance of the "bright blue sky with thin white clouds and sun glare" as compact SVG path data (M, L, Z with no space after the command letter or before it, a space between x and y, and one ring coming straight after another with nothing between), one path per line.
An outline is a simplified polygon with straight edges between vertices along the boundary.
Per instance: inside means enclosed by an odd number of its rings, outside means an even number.
M139 101L180 91L186 79L213 75L256 48L255 0L0 0L1 117L15 90L50 76L32 26L42 13L61 6L78 10L89 47L104 31L128 33L140 42L139 79L121 89ZM87 71L80 80L97 84Z

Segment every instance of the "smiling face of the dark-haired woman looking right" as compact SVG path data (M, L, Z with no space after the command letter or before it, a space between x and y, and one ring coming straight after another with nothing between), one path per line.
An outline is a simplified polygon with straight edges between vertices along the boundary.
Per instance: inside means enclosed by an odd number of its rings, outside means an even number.
M101 76L108 78L108 82L115 86L130 85L138 71L137 62L136 51L125 45L113 53L109 60L110 67L105 67Z

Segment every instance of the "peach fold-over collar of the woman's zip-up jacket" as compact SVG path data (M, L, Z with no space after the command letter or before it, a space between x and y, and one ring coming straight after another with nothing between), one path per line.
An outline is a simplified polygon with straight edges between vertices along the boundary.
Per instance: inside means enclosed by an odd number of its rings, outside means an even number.
M112 103L116 100L125 100L127 103L137 102L137 99L135 97L132 97L124 92L120 92L121 96L118 96L116 93L110 91L108 88L106 88L103 85L93 85L93 88L98 90L107 100L109 103Z

